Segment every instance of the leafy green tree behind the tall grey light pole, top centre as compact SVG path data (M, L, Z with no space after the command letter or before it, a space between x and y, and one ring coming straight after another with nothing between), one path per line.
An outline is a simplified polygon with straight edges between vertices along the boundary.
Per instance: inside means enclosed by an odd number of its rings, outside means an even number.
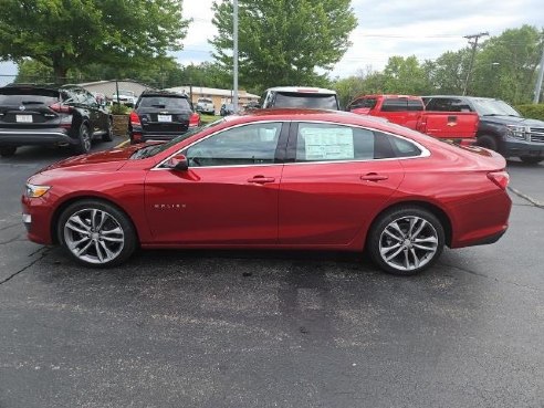
M213 56L232 71L233 6L213 2ZM327 83L357 25L351 0L239 0L240 83L254 88Z

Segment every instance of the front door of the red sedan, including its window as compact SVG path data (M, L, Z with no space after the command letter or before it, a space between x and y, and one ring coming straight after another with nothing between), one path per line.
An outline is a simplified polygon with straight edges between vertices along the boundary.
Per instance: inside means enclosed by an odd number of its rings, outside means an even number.
M187 171L150 170L146 211L157 242L276 243L281 129L281 123L229 128L184 150Z

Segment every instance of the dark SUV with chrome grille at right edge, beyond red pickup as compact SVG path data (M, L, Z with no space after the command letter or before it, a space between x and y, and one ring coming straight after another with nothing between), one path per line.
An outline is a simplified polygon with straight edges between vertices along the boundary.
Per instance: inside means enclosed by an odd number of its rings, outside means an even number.
M475 112L477 144L527 164L544 160L544 122L526 119L500 100L473 96L423 96L428 111Z

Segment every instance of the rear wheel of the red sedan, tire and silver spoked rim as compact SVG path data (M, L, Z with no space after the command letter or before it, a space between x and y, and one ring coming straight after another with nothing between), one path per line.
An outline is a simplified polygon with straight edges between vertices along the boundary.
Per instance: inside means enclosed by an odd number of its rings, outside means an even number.
M411 224L411 220L416 223ZM378 216L367 240L372 260L383 271L395 275L415 275L430 268L443 245L444 232L438 218L414 206L393 208Z

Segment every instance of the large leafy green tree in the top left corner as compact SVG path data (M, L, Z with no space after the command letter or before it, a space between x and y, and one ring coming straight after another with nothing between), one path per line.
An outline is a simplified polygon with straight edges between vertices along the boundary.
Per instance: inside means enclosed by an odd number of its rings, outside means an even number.
M0 60L32 59L64 82L92 63L145 67L182 48L182 0L1 0Z

